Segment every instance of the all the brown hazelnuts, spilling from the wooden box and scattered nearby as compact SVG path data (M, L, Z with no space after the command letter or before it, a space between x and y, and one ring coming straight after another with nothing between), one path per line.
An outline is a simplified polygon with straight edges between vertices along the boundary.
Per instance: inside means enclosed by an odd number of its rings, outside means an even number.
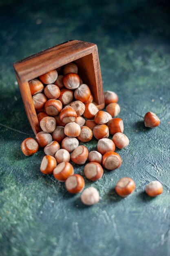
M79 193L84 189L82 175L74 174L70 159L75 164L85 164L84 175L88 180L99 180L103 168L114 170L121 165L121 157L115 151L126 148L128 137L123 134L124 124L116 116L120 112L115 92L104 92L106 111L98 110L93 102L93 95L79 77L75 63L52 70L29 81L33 103L42 131L33 138L26 138L22 144L24 155L33 155L38 146L44 148L46 154L41 162L40 171L51 174L60 182L65 182L66 190ZM59 74L59 75L58 75ZM146 127L159 125L159 118L152 112L144 117ZM108 136L113 135L112 139ZM79 141L87 142L95 137L98 140L97 151L88 152L86 146ZM61 145L61 149L60 149ZM71 153L71 155L70 155ZM130 177L121 178L115 191L120 196L127 196L135 189L135 182ZM146 193L155 196L162 193L162 185L158 181L146 186ZM90 186L81 194L86 205L99 201L97 189Z

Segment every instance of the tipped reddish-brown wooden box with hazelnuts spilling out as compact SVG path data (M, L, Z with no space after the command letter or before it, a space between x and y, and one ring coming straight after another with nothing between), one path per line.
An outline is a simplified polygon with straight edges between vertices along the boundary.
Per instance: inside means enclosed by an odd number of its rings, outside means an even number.
M74 61L78 74L86 83L99 109L104 108L104 94L97 45L71 40L13 63L26 115L35 135L40 131L29 81Z

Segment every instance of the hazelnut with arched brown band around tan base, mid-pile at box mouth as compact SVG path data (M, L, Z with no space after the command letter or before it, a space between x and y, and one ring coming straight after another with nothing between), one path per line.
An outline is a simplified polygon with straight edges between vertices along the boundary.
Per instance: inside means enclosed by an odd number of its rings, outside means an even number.
M62 123L68 124L75 121L77 113L71 106L66 106L62 109L59 116Z

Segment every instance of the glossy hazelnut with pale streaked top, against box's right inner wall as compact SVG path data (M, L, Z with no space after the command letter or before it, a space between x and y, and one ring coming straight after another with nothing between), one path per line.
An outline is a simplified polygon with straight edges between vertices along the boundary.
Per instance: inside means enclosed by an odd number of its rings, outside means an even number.
M91 96L91 91L85 83L81 84L74 92L74 97L77 101L82 101L83 103L88 101Z

